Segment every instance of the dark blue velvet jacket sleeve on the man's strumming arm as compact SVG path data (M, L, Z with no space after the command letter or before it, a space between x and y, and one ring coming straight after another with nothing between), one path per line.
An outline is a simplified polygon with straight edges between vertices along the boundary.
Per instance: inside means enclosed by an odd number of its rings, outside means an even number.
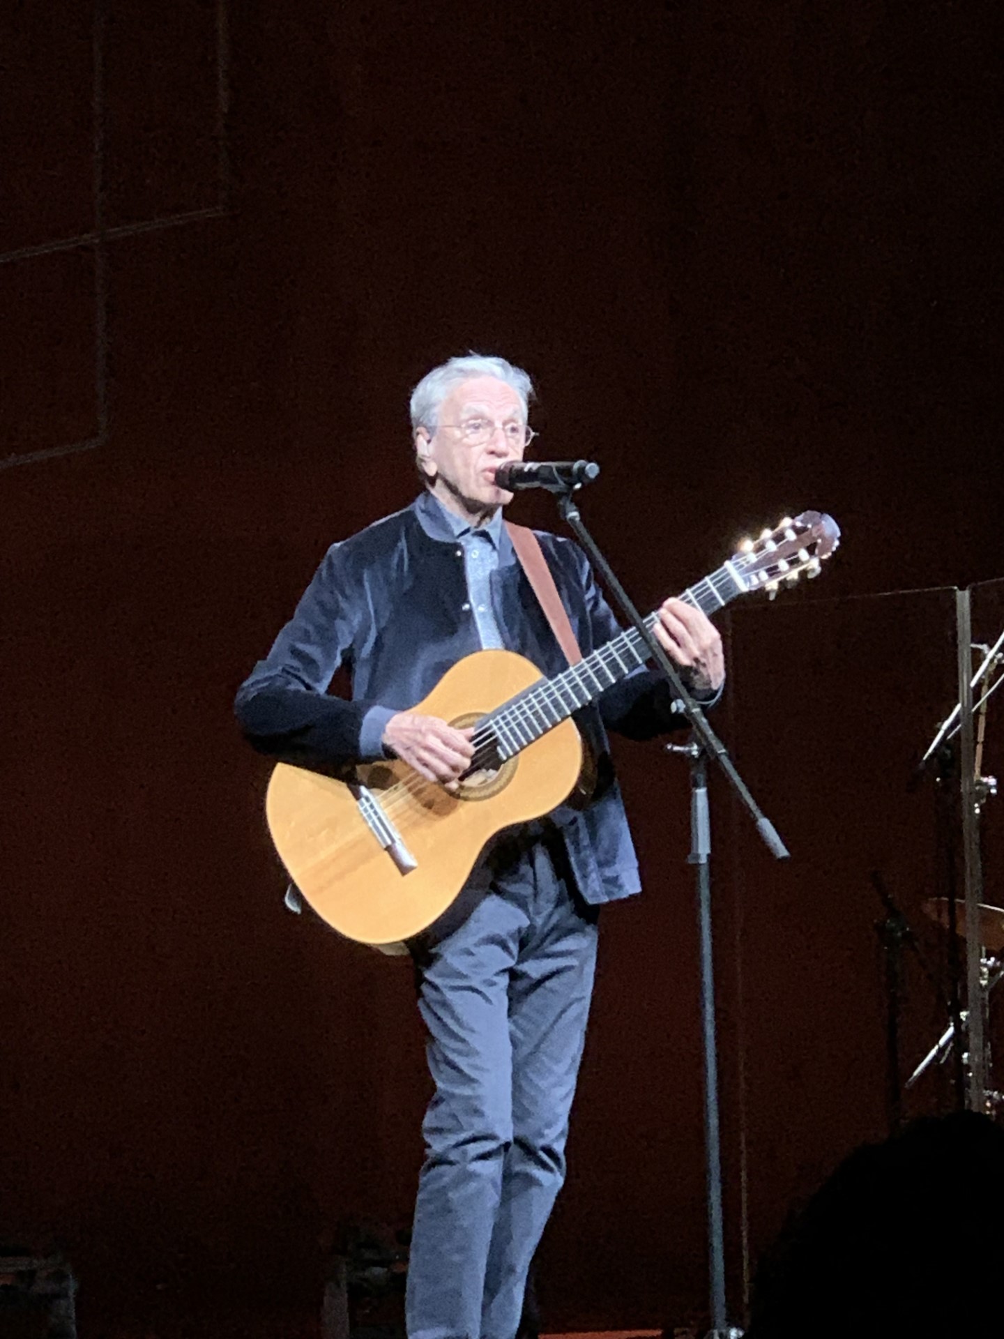
M364 592L332 545L274 645L241 684L234 711L248 742L260 753L301 767L329 770L364 761L360 735L367 715L367 747L382 757L380 715L371 702L328 694L340 664L351 667L360 621L368 616Z

